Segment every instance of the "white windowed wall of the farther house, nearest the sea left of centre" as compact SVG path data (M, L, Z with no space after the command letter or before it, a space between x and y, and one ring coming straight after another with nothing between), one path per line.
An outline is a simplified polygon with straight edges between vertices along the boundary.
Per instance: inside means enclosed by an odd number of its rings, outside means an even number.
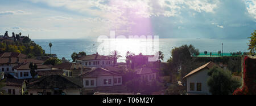
M85 67L96 67L96 68L101 68L101 67L109 67L114 65L114 60L109 59L109 60L76 60L76 63L80 63Z

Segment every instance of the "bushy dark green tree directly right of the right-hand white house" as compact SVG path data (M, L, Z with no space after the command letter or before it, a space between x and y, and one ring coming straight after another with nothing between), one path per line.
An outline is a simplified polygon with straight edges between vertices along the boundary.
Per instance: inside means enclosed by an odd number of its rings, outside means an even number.
M232 77L232 73L222 68L213 68L208 72L207 85L213 95L230 95L241 86L241 82Z

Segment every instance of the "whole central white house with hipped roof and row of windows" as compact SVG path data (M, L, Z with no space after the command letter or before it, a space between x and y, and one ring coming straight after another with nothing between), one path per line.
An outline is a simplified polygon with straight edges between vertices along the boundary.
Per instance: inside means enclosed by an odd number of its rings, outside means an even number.
M94 68L81 76L84 88L109 87L122 85L122 76L116 72Z

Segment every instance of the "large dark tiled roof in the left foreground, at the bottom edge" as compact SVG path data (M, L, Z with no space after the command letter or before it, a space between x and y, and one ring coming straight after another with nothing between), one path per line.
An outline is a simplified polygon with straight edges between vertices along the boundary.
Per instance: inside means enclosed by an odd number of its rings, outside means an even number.
M51 75L51 76L44 76L41 78L36 78L31 80L28 85L27 89L80 89L82 87L82 83L80 80L60 76L60 75Z

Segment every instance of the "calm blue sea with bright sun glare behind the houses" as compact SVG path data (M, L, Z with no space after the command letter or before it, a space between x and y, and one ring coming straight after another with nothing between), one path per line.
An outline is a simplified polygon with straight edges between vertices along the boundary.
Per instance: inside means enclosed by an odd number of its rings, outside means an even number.
M98 51L98 46L102 45L102 43L97 42L96 39L32 39L38 45L42 46L46 53L49 53L49 42L52 43L52 54L56 54L58 58L66 58L68 60L71 59L71 54L73 52L85 51L86 54L96 54ZM134 52L138 55L143 52L143 46L146 46L147 41L123 41L115 43L119 48L118 50L123 57L118 61L125 60L125 53L127 51ZM171 56L171 49L173 47L179 47L181 45L190 45L192 44L196 48L199 48L200 52L204 52L205 50L209 52L217 52L221 50L221 43L224 43L224 52L245 52L248 51L247 43L249 43L248 39L159 39L159 50L164 54L164 61L167 61ZM139 47L141 46L141 47ZM98 51L100 52L100 51ZM105 54L109 54L109 52L105 52Z

